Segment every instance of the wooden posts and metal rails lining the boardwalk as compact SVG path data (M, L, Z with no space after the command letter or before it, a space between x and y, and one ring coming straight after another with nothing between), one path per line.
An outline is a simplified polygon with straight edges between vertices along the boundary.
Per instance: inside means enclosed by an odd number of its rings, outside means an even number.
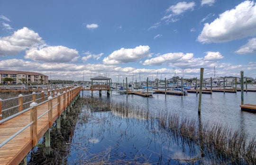
M42 101L38 104L35 102L38 100L38 99L35 99L36 93L33 93L32 94L33 100L31 100L32 103L30 104L30 107L28 107L24 110L22 108L18 108L19 109L18 113L15 113L13 115L10 115L10 116L0 120L0 124L3 124L21 114L23 114L23 113L26 113L27 111L30 111L30 122L26 126L21 128L18 132L15 132L13 135L11 135L8 139L6 139L2 143L0 143L0 148L3 147L6 143L8 143L10 140L15 138L18 134L23 132L25 129L27 129L29 126L30 126L30 139L32 140L32 144L33 144L32 146L35 147L37 144L37 137L38 137L38 135L37 135L37 120L39 120L42 116L48 114L49 127L52 126L53 122L54 122L53 121L53 108L57 107L58 116L60 116L62 114L62 112L64 111L64 109L73 101L74 97L76 95L78 95L78 93L81 91L81 89L82 89L81 86L76 87L76 88L69 87L69 88L62 89L63 90L62 93L58 92L57 95L55 95L54 97L52 97L51 94L49 94L48 95L49 97L47 100ZM61 90L59 90L59 91L61 91ZM51 91L48 91L48 92L51 92ZM42 93L44 93L44 92L42 92ZM53 95L53 93L52 93L52 95ZM20 100L22 100L22 99L20 99L20 98L22 98L22 96L19 96L16 98L11 98L11 99L19 99L18 106L14 106L11 108L23 106L22 101L20 102ZM44 98L45 97L42 97L40 99L44 99ZM11 100L11 99L5 99L5 100ZM57 99L57 102L55 102L54 105L53 105L53 99ZM5 100L1 100L0 103L2 103L2 101L5 101ZM29 101L29 102L31 102L31 101ZM45 112L43 114L38 116L37 107L39 107L45 103L48 104L47 109L45 109ZM24 103L24 104L27 104L27 103ZM61 108L61 105L63 105L62 106L63 108ZM11 108L4 109L3 111L9 110Z

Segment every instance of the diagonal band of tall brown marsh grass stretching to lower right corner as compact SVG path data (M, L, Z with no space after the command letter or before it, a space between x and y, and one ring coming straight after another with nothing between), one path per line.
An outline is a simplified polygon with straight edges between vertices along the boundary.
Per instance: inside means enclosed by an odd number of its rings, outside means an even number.
M256 164L256 139L248 139L247 134L232 130L223 124L201 123L199 120L180 117L176 114L158 112L130 105L126 102L110 102L108 99L86 98L87 107L108 107L122 117L136 117L149 121L157 120L161 133L185 144L191 151L201 148L197 157L186 160L210 164ZM104 108L102 108L104 109ZM151 122L152 123L152 122Z

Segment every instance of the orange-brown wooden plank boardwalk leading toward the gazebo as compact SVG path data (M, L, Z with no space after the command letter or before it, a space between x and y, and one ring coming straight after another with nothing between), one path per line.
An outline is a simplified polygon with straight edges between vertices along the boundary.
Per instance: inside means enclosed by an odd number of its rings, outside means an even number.
M53 122L56 121L62 112L72 103L80 90L81 87L73 88L68 92L50 99L52 100L52 111L50 110L39 119L37 119L37 117L48 111L49 100L36 106L37 114L35 118L37 121L35 122L34 120L36 125L32 124L28 126L24 131L20 132L16 137L0 147L0 165L18 165L36 145L37 140L42 138L50 126L52 126ZM33 109L35 109L35 107ZM31 112L32 109L0 124L0 144L30 123ZM52 117L49 115L51 112ZM34 135L31 133L32 126L36 126L36 131L34 131L36 134Z

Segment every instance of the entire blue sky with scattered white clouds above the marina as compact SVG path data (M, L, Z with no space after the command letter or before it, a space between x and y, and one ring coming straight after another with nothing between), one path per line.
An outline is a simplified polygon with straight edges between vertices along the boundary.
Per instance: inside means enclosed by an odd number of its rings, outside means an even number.
M0 70L112 82L256 78L254 0L1 0ZM215 72L214 72L215 67Z

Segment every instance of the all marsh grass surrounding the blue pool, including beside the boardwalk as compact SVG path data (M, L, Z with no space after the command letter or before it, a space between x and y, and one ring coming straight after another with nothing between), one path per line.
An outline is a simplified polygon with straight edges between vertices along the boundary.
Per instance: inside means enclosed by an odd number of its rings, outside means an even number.
M61 128L62 133L51 133L52 154L50 156L46 155L44 149L41 148L41 153L33 153L34 160L38 161L31 162L30 165L36 165L38 162L40 164L67 163L69 144L72 142L72 136L69 135L69 132L74 130L75 124L79 124L76 123L77 121L81 122L80 124L82 125L87 123L91 117L90 112L84 111L80 113L80 110L84 107L90 110L91 113L108 111L122 118L145 120L147 122L146 127L152 128L149 132L154 133L155 136L160 139L165 137L169 140L174 140L182 148L183 152L186 152L186 148L189 148L189 157L179 159L166 156L159 151L154 153L159 156L159 161L152 163L150 157L145 157L145 155L139 153L133 159L122 159L120 153L117 154L115 146L97 154L91 154L87 151L87 148L81 148L78 143L76 147L84 150L87 156L77 156L75 162L77 165L149 165L161 164L162 161L160 159L163 158L169 161L175 160L177 164L256 164L255 138L248 139L247 134L234 131L222 124L202 123L200 116L196 120L180 117L176 114L155 113L126 102L91 97L78 99L75 106L73 112L76 113L67 115L69 116L68 119L62 121L64 122ZM97 120L99 120L98 122L105 122L104 118ZM52 128L52 131L56 131L55 128ZM165 164L168 164L168 162L165 162Z

